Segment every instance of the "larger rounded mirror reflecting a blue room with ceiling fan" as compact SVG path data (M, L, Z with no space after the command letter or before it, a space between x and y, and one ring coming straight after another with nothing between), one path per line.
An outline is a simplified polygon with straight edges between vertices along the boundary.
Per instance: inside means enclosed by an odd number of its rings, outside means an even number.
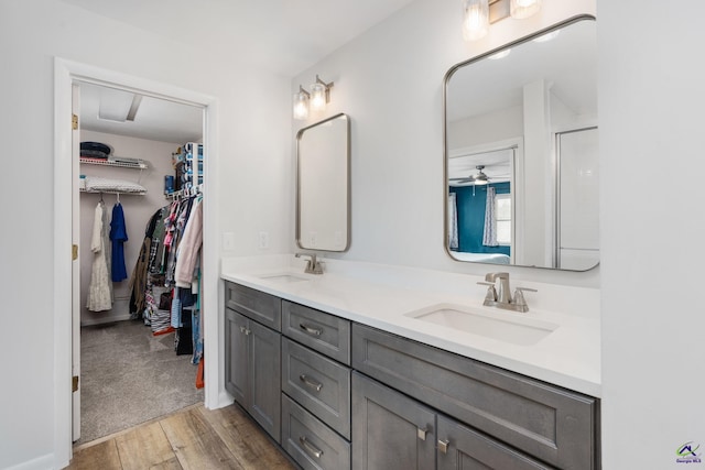
M453 259L573 271L599 262L596 48L594 18L581 17L448 70Z

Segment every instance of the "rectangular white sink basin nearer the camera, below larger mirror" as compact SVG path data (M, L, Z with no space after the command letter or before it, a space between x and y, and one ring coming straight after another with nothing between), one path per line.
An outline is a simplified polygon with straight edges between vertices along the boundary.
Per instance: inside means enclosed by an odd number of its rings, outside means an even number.
M519 346L532 346L551 335L558 325L538 320L528 314L436 304L404 314L433 325L462 330Z

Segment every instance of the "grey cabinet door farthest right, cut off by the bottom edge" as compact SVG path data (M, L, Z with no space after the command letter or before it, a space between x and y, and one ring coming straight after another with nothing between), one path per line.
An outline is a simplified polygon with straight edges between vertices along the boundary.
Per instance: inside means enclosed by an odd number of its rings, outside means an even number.
M440 415L438 470L553 469L458 422Z

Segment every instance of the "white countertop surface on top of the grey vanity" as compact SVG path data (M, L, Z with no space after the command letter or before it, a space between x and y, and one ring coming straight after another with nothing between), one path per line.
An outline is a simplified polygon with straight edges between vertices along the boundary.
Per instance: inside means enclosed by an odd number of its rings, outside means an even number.
M220 275L226 281L352 321L600 396L597 289L517 283L539 291L525 294L530 310L521 314L484 307L487 287L476 284L484 281L480 276L349 261L324 260L324 263L326 272L313 275L304 274L302 260L289 255L224 259ZM496 271L501 271L501 266ZM519 345L406 315L440 304L556 328L538 342Z

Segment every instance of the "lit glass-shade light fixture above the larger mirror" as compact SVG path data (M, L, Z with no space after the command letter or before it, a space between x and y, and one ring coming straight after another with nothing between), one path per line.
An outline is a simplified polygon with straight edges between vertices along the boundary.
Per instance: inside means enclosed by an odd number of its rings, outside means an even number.
M489 25L511 17L523 20L541 10L542 0L463 0L463 37L476 41L484 37Z

